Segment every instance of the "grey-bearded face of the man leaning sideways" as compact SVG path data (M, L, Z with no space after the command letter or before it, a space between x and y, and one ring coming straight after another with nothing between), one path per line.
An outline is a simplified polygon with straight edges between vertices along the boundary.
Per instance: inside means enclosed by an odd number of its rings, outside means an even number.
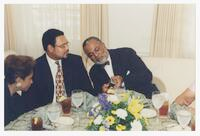
M85 54L96 64L103 64L107 61L108 50L105 44L95 39L89 40L83 48Z

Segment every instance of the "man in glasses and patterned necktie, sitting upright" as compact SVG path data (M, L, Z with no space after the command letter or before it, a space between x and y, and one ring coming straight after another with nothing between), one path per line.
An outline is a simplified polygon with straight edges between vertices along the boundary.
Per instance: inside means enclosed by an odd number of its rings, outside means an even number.
M82 59L78 55L69 53L69 41L62 31L47 30L43 34L42 44L45 53L36 59L33 84L28 94L30 96L28 98L33 103L30 107L35 108L56 102L58 64L61 66L60 69L62 68L62 77L64 78L62 87L64 87L65 95L71 96L71 91L74 89L92 93L93 87Z

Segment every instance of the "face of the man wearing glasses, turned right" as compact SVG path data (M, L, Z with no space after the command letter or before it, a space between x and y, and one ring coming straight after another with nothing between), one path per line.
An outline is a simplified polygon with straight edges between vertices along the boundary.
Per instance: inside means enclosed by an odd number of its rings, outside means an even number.
M67 58L69 52L69 42L64 35L56 37L55 47L48 45L47 53L55 60Z

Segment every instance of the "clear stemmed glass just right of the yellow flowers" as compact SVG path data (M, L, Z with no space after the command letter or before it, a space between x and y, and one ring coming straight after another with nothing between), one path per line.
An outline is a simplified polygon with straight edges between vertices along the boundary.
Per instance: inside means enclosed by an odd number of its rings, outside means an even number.
M152 92L152 103L157 113L156 122L159 123L159 109L162 107L165 101L164 96L159 91Z

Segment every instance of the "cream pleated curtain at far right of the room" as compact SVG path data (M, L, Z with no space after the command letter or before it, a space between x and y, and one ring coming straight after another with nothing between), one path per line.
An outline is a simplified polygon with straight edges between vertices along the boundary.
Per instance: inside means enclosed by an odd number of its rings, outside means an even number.
M195 58L195 5L161 4L155 14L151 56Z

